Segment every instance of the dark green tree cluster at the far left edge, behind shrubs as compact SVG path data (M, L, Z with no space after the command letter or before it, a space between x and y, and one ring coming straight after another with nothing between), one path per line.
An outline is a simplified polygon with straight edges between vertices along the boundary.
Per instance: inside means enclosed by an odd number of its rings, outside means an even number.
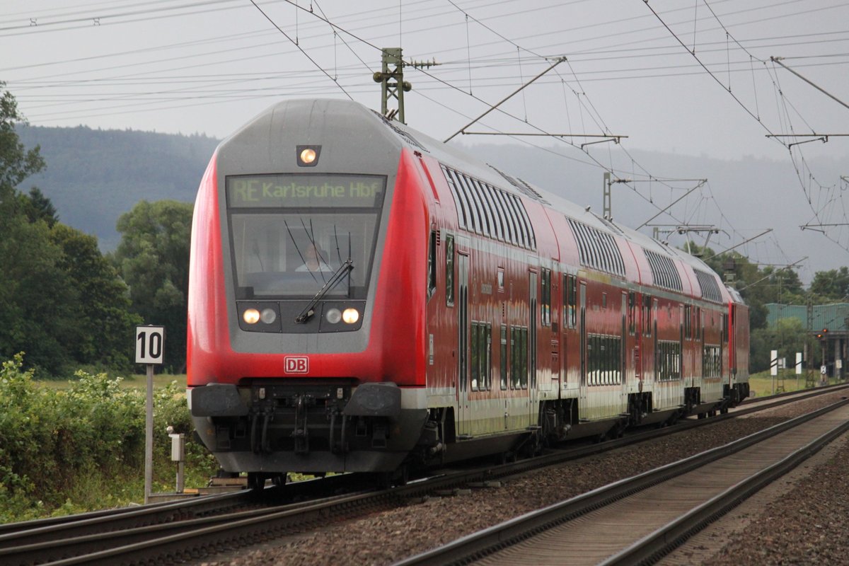
M2 90L3 83L0 83ZM24 121L0 94L0 356L25 352L28 367L58 376L71 364L129 367L132 327L127 287L97 241L58 221L38 188L17 188L41 171L39 149L15 132Z

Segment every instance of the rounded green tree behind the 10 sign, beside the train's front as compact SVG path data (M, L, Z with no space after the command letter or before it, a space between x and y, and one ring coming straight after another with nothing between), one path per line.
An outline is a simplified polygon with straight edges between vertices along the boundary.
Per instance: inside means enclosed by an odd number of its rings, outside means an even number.
M188 244L192 205L145 200L118 219L121 244L113 261L130 287L132 311L145 323L166 327L165 363L186 361Z

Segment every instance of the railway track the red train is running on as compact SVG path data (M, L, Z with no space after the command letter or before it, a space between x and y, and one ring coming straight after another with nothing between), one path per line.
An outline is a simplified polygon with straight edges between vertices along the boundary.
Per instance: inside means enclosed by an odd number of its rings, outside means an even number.
M155 504L132 509L86 513L70 518L44 519L23 524L0 525L0 563L155 563L178 562L216 554L222 549L248 546L258 541L303 532L334 520L394 507L410 498L428 496L437 490L492 485L499 478L615 450L659 435L716 423L725 418L830 392L820 389L806 395L778 400L759 400L728 415L711 419L688 419L680 427L652 429L626 438L555 451L543 457L502 466L443 471L439 476L391 490L328 496L338 490L356 489L347 484L356 478L332 476L314 482L269 488L262 496L242 492L209 496L192 502ZM307 493L309 489L311 493ZM301 503L277 504L293 498Z

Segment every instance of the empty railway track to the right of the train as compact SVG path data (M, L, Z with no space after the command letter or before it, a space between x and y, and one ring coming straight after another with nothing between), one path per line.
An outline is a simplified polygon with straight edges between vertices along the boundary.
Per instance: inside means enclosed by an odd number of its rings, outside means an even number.
M396 566L654 563L849 430L849 400L514 518Z

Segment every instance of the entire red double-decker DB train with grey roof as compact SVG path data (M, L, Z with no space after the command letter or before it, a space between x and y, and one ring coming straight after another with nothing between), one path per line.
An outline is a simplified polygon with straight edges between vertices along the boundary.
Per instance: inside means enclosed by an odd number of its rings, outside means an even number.
M702 261L340 100L221 143L188 403L228 472L379 472L724 412L748 310Z

